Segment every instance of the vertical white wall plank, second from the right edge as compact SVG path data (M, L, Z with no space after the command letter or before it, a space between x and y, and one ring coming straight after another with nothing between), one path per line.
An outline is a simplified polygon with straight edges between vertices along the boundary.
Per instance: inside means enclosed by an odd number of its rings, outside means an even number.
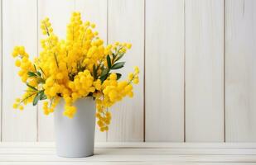
M186 141L224 141L224 1L186 0Z

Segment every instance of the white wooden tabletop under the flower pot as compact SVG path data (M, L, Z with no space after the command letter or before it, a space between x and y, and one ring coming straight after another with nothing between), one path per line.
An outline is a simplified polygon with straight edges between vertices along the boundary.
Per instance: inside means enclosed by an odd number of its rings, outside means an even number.
M2 143L0 164L256 164L256 144L97 143L94 156L60 158L53 143Z

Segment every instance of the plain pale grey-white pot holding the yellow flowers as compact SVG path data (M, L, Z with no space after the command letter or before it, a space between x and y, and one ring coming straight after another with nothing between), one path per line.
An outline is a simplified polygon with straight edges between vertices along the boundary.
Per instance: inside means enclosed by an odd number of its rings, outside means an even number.
M54 112L56 152L60 157L81 158L94 154L95 101L80 98L73 119L63 115L65 101L60 100Z

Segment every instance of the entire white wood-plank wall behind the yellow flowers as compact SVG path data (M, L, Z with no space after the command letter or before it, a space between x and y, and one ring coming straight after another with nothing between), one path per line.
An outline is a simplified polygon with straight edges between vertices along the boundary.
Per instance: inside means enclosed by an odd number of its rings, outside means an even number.
M135 97L112 109L97 141L255 142L256 1L2 0L1 140L51 141L52 115L12 109L24 85L12 47L40 51L40 20L65 35L70 12L97 24L107 43L128 41L127 67L141 68Z

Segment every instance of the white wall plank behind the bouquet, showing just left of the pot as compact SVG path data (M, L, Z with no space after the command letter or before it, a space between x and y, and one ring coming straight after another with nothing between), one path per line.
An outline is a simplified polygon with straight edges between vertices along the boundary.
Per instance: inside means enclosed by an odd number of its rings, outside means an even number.
M65 39L66 24L70 21L70 16L74 9L74 1L38 0L39 44L41 37L43 37L43 35L41 35L40 21L46 16L49 17L54 33L58 35L60 39ZM41 46L39 47L39 50L41 50ZM38 108L38 140L54 140L53 114L44 115L42 104L40 104Z

